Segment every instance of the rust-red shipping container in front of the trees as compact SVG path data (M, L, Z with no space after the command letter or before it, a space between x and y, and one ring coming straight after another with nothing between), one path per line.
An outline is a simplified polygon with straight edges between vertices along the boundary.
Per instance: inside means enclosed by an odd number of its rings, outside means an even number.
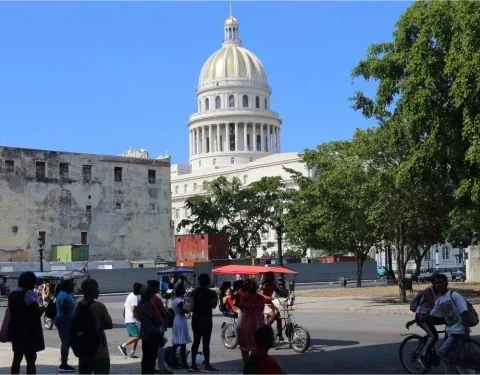
M226 233L175 236L177 263L179 261L228 259L228 247L229 238Z

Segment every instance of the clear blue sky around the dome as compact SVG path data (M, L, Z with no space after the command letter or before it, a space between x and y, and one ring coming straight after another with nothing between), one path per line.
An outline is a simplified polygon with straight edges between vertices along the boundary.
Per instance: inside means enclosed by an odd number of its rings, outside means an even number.
M375 85L350 72L392 39L411 2L233 2L263 62L284 152L374 125L350 109ZM228 2L0 2L0 144L188 160L188 116Z

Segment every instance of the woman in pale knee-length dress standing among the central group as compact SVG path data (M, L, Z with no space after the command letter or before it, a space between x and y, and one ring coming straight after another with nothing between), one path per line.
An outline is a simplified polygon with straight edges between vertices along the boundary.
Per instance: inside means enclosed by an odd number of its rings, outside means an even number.
M175 299L172 301L173 318L172 327L172 344L174 358L176 358L178 347L180 347L180 357L182 363L179 368L188 369L187 364L187 344L192 342L190 333L188 332L188 320L185 316L186 311L183 310L183 297L185 296L185 287L182 284L177 284L175 288Z

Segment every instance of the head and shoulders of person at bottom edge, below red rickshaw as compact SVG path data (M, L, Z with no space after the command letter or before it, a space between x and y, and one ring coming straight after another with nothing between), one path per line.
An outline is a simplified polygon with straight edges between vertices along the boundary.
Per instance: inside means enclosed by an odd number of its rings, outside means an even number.
M262 324L255 330L255 350L250 355L244 374L285 374L275 358L268 355L275 341L271 325Z

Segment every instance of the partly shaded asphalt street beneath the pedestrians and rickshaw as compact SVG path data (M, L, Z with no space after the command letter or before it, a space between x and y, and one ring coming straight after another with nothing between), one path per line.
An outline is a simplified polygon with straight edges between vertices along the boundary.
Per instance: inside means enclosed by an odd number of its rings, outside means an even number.
M114 329L108 331L110 354L112 355L112 371L132 373L139 371L139 363L135 360L120 358L116 346L125 338L122 325L123 296L102 297L114 320ZM404 324L409 316L402 314L369 314L369 313L322 313L295 312L297 322L308 328L312 338L312 346L305 354L296 354L287 347L271 351L287 373L402 373L398 359L401 333L405 333ZM0 316L3 319L4 308ZM214 318L212 339L212 362L222 372L240 372L240 352L228 350L220 342L220 325L223 317L217 312ZM414 328L414 331L418 328ZM478 328L474 329L476 333ZM168 337L170 333L168 333ZM48 347L58 348L60 341L57 331L45 332ZM8 344L0 347L0 372L8 373ZM50 366L39 366L39 373L56 373L58 354L50 351ZM141 353L141 351L140 351ZM56 357L56 358L55 358ZM72 361L75 364L76 361ZM138 360L136 361L138 362ZM433 373L442 373L435 369Z

